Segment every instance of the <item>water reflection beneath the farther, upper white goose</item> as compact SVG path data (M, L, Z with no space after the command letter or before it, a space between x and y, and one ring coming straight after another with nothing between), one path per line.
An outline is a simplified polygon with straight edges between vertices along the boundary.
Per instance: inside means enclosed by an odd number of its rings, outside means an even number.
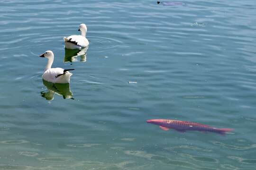
M65 58L64 62L75 62L78 61L80 57L81 62L86 62L86 51L88 46L82 49L66 49L65 48Z

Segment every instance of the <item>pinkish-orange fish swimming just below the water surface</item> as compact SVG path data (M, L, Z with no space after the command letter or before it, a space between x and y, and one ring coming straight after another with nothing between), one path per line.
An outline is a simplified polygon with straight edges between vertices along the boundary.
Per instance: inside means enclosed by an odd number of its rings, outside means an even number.
M163 130L169 130L170 128L172 128L179 132L185 132L187 130L196 130L201 132L215 132L223 135L226 132L230 132L233 130L230 128L215 128L215 127L210 127L208 125L203 125L196 122L171 120L171 119L151 119L151 120L147 120L146 122L159 125L159 127L162 128Z

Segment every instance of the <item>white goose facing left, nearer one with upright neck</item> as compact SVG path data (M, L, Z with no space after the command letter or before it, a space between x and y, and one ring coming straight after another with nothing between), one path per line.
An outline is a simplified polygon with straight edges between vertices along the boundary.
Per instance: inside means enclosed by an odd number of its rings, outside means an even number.
M40 57L45 57L48 59L44 74L42 76L44 80L52 83L69 83L70 76L72 76L72 73L70 73L69 70L74 69L51 68L54 61L53 51L46 51L45 53L41 54Z

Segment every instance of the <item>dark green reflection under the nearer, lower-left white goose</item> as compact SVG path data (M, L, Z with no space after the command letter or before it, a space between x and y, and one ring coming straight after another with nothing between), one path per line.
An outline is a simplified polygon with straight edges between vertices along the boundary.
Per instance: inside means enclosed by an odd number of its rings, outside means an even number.
M46 86L48 91L41 92L41 96L46 98L46 100L53 100L54 94L62 95L64 99L73 99L73 93L70 91L69 83L51 83L43 80L43 84Z

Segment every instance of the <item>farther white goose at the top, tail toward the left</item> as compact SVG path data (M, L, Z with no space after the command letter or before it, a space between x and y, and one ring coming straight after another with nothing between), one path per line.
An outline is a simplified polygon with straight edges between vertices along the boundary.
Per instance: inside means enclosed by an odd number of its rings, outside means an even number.
M64 37L65 48L67 49L81 49L89 45L87 40L86 32L87 27L85 24L80 24L78 31L81 31L81 35L70 35L69 37Z

